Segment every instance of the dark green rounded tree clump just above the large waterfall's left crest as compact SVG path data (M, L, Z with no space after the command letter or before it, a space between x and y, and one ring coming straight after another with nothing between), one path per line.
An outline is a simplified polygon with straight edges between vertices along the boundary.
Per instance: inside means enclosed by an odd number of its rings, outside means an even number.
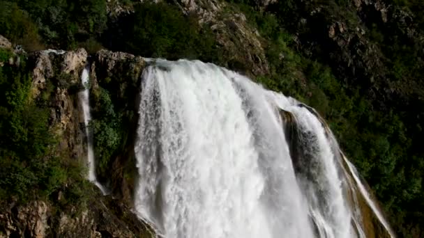
M156 58L215 61L215 36L197 24L197 16L183 15L169 3L145 3L107 32L110 49ZM123 27L125 26L125 27Z

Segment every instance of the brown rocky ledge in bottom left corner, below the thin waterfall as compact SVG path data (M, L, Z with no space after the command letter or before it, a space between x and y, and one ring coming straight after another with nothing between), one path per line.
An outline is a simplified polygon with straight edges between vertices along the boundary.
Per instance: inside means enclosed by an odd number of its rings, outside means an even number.
M9 205L0 213L0 238L6 237L153 237L129 207L102 197L86 207L63 212L51 203L36 200Z

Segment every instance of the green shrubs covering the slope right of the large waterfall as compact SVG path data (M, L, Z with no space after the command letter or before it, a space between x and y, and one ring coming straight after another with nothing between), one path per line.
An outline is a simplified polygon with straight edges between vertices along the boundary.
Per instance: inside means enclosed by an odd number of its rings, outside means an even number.
M412 1L404 3L423 7ZM374 87L380 92L387 88L398 92L374 97L368 93L367 81L340 80L352 77L346 76L349 68L342 68L326 55L343 52L325 48L331 44L328 30L321 31L321 35L316 31L319 21L324 26L335 20L357 25L360 18L354 8L330 1L322 9L324 17L308 19L312 26L305 19L303 26L298 22L304 17L301 13L308 10L301 3L278 1L265 11L257 10L255 3L236 1L236 6L265 39L271 74L257 80L315 107L375 191L398 235L420 237L424 225L424 213L418 212L424 210L424 152L419 145L423 135L423 46L419 42L407 43L408 39L402 38L404 26L397 26L398 22L382 24L381 20L368 19L366 36L380 47L388 70L385 81L375 82ZM423 22L420 15L418 24ZM316 45L300 45L303 38Z

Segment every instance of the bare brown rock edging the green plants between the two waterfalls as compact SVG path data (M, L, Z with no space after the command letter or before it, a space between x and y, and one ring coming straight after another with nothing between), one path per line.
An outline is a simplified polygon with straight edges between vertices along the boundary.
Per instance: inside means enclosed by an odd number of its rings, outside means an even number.
M100 50L91 63L92 95L98 95L99 88L104 88L114 102L117 113L122 115L123 138L125 145L114 153L110 160L109 171L98 173L100 180L110 184L116 198L132 203L135 189L134 140L138 122L139 84L146 62L140 56L123 52Z

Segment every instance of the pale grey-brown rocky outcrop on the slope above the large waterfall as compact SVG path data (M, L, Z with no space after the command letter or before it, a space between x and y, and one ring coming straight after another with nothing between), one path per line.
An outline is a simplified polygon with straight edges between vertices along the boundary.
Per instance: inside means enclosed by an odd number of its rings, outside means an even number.
M240 10L218 0L181 0L179 4L185 13L197 15L199 24L215 33L227 62L224 66L252 76L268 74L262 38Z

